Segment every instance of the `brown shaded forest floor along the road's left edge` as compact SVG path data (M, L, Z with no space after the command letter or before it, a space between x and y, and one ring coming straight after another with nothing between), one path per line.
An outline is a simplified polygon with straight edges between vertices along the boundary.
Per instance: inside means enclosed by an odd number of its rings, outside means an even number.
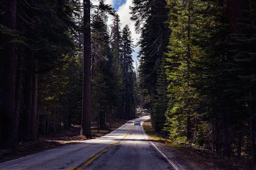
M97 124L92 124L92 137L100 137L111 131L119 128L125 124L127 120L115 120L111 129L99 130ZM12 159L17 159L26 155L31 155L40 151L61 147L63 145L82 142L87 140L83 135L80 135L80 126L70 127L69 130L63 129L59 132L49 135L40 135L37 140L34 141L19 141L17 144L17 150L13 152L11 149L0 149L0 163L6 162Z

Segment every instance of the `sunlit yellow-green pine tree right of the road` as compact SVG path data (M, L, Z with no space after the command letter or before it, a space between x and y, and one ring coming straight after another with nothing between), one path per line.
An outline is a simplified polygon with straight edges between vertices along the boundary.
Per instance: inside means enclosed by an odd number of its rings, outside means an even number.
M218 83L224 43L220 39L227 36L219 18L222 6L201 1L174 1L168 5L172 35L166 57L170 81L166 128L173 137L186 136L190 142L209 146L214 140L214 135L209 135L209 123L221 111Z

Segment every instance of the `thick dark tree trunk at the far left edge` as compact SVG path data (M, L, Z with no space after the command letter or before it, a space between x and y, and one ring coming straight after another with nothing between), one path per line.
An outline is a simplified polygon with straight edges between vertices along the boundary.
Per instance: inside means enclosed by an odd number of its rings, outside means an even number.
M10 30L16 29L16 0L9 0L6 11L6 26ZM15 71L16 71L16 46L10 41L15 38L8 36L6 39L7 55L3 68L3 138L5 147L16 149L18 115L15 112ZM5 129L5 130L4 130Z

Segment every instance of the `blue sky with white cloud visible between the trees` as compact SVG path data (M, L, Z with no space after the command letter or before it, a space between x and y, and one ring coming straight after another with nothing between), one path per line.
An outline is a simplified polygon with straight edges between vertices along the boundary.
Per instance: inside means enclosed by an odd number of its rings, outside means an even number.
M92 1L92 3L94 5L98 4L98 1ZM123 29L123 27L125 25L128 25L131 32L132 32L132 39L133 39L133 44L134 46L137 44L137 42L139 41L140 38L140 34L136 34L135 32L135 26L134 26L134 21L130 20L131 18L131 10L130 10L130 6L132 6L132 0L106 0L105 4L109 4L112 5L113 8L115 8L115 10L117 11L117 14L120 17L120 23L121 23L121 30ZM109 25L112 24L112 17L110 16L109 21L108 21ZM134 60L134 66L136 65L135 62L137 60L137 56L138 56L138 52L139 52L139 47L135 46L134 47L134 53L133 55L133 60Z

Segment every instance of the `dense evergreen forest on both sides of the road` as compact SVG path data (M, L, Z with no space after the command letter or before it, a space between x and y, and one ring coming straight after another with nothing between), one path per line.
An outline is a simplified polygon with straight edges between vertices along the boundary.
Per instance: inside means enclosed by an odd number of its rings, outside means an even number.
M74 124L90 138L91 122L108 129L140 106L174 142L256 163L255 1L133 0L130 9L138 44L103 0L0 2L1 147Z

